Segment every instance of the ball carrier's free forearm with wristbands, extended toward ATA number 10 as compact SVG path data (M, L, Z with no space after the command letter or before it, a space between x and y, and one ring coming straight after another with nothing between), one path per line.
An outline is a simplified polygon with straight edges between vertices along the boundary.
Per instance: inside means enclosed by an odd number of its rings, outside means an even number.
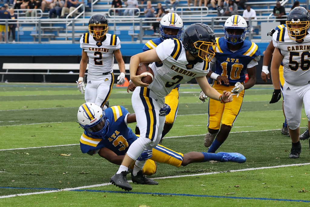
M206 96L214 100L221 101L223 103L232 101L232 94L229 91L224 91L223 94L220 94L214 88L211 88L206 76L196 77L196 80L201 90L203 91L203 93L206 94Z

